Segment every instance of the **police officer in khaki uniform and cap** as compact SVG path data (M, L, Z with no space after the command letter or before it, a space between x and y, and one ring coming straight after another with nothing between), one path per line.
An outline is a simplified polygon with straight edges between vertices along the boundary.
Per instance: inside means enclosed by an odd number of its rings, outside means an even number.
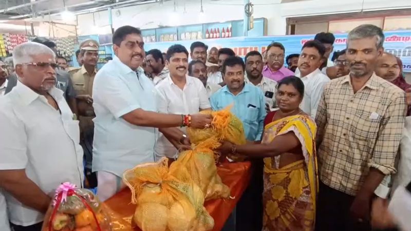
M83 65L78 70L72 70L71 80L77 92L77 108L79 112L81 145L84 150L86 162L86 186L97 186L96 175L91 172L92 140L94 136L95 118L93 100L91 98L94 78L97 73L96 65L99 60L99 44L95 40L86 40L80 44L80 57ZM87 185L87 183L89 185Z

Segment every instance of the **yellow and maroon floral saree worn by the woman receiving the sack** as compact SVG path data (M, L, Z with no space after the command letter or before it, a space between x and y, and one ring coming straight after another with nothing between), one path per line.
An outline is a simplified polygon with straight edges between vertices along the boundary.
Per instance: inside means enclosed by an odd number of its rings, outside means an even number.
M293 115L267 124L261 143L294 132L304 160L279 167L280 156L264 159L263 231L312 231L318 187L314 121Z

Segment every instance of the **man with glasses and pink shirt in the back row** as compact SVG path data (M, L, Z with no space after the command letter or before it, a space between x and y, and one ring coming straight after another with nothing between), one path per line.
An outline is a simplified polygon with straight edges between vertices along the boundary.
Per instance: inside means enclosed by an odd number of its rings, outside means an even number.
M286 49L283 44L273 42L267 47L267 62L263 68L263 75L268 79L278 82L287 76L294 75L294 72L284 67L284 54Z

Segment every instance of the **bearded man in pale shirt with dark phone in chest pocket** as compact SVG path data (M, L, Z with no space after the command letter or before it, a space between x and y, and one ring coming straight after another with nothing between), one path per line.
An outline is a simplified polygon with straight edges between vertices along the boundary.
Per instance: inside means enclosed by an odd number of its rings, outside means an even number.
M268 109L276 107L275 92L277 82L263 76L263 56L258 51L250 51L246 58L246 83L251 83L263 91Z

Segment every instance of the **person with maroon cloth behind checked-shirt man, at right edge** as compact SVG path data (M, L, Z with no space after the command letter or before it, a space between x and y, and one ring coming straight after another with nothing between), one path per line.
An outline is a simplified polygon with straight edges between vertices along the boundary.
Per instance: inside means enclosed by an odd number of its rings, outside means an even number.
M403 65L399 57L394 54L384 52L377 61L376 74L384 80L396 85L403 91L411 88L403 75ZM411 115L411 106L408 106L407 116Z

